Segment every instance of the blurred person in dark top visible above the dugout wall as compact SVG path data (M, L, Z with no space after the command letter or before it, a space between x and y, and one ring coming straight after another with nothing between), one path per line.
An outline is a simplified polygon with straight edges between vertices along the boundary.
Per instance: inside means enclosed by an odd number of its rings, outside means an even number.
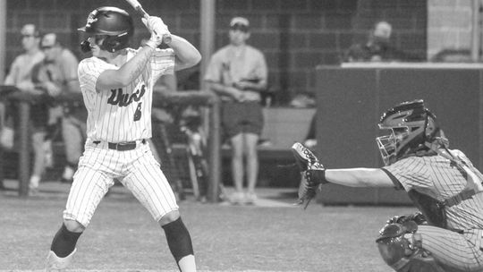
M387 21L377 21L369 31L368 40L350 47L343 56L344 62L420 61L421 57L394 47L391 43L393 27Z

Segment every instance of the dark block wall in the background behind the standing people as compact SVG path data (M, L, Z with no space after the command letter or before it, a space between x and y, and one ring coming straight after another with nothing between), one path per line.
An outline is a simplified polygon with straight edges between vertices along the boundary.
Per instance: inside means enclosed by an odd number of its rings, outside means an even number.
M160 15L173 33L199 47L199 1L142 0L142 4L149 13ZM8 0L6 67L21 53L19 30L28 22L59 33L82 58L76 29L102 5L132 12L120 0ZM426 55L427 13L427 0L217 0L216 48L228 42L227 25L234 15L248 17L250 44L267 55L270 86L277 91L276 100L285 103L295 94L314 94L315 66L337 64L345 48L366 39L375 21L393 24L396 46ZM148 36L140 20L136 26L135 40Z

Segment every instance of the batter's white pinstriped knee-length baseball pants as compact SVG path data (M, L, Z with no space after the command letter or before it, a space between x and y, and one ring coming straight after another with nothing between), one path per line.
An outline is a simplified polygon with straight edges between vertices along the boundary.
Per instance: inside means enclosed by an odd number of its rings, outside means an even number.
M114 184L114 178L123 183L157 221L179 208L148 142L139 143L136 149L118 151L108 149L103 142L97 145L88 140L73 176L64 219L76 220L87 227L100 200Z

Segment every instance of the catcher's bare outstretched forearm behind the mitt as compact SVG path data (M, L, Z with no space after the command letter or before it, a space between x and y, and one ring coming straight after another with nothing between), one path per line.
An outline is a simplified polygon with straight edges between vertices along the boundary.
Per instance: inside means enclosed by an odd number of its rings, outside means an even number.
M391 178L380 168L326 169L326 180L349 187L394 187Z

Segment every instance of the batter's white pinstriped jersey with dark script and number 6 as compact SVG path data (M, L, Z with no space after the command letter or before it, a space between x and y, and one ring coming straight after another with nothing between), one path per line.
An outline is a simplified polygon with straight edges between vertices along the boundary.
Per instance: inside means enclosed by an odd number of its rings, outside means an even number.
M138 50L127 48L127 60ZM79 64L80 89L88 110L88 139L123 142L151 138L153 87L162 74L174 72L174 51L157 49L140 77L118 89L96 89L99 75L114 64L93 56Z

